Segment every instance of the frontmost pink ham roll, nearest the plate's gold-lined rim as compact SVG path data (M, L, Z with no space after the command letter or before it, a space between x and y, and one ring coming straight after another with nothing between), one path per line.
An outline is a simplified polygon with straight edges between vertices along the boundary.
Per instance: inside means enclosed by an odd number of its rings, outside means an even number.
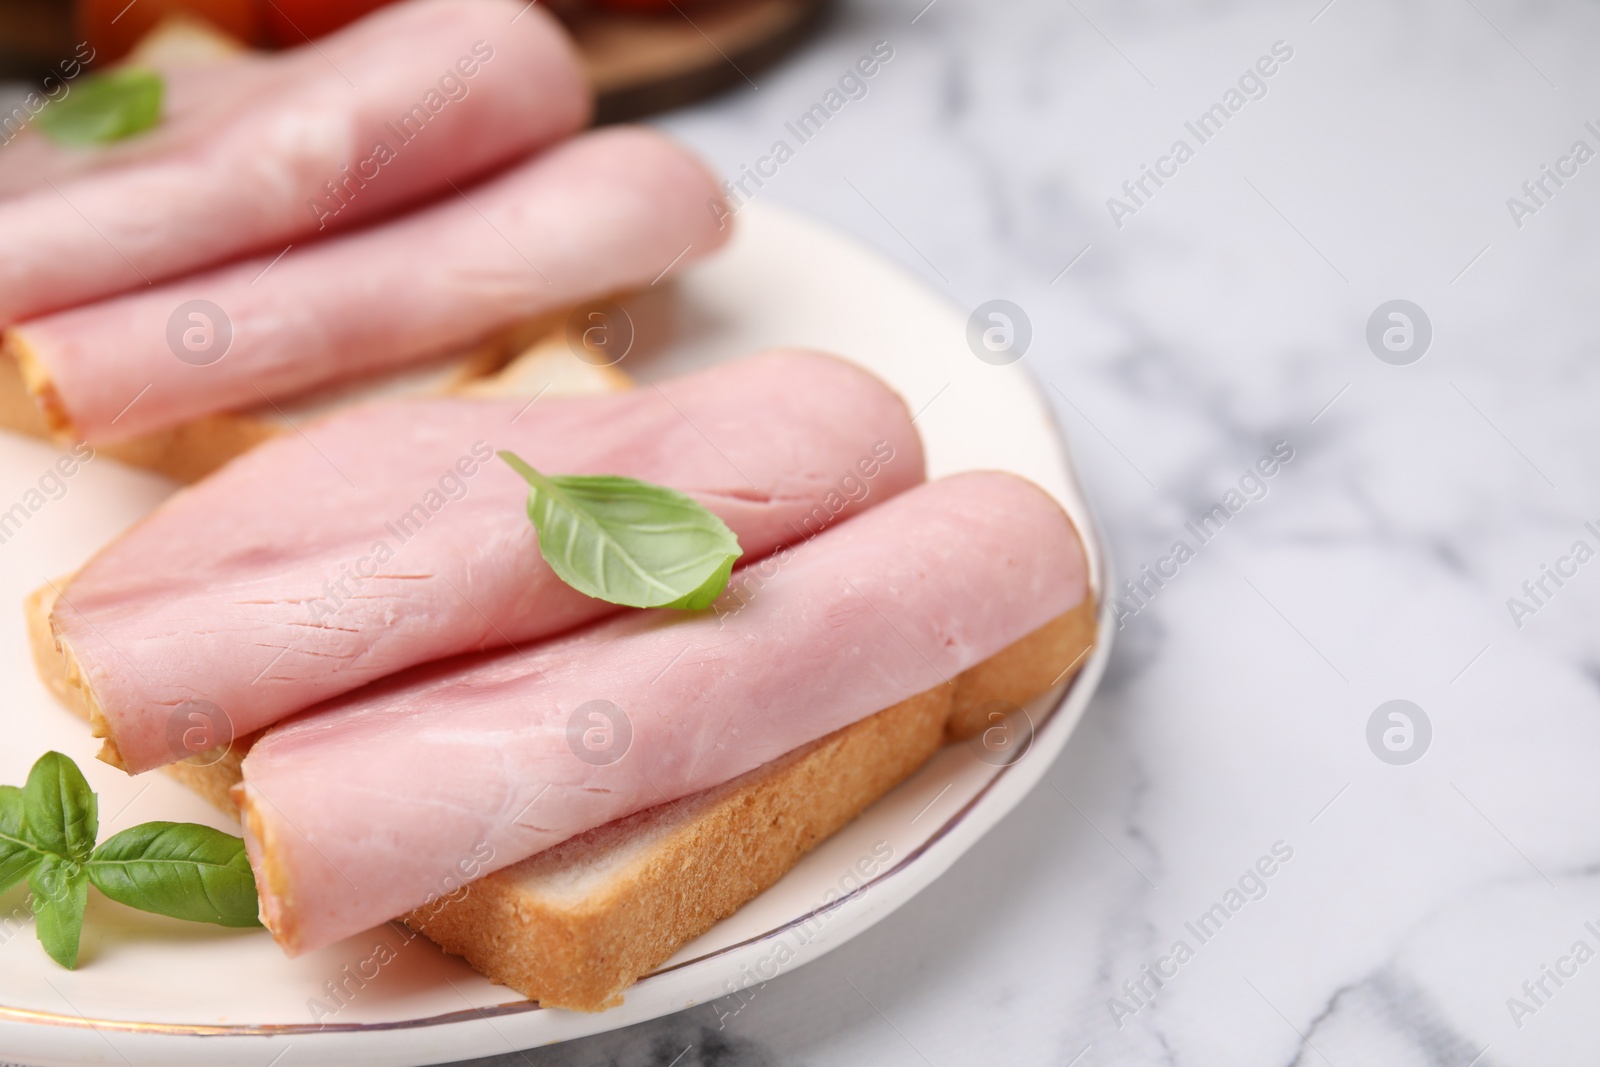
M1088 589L1061 507L992 472L915 488L754 569L720 609L435 664L269 731L234 795L283 949L445 896L464 864L498 870L726 782L947 683Z

